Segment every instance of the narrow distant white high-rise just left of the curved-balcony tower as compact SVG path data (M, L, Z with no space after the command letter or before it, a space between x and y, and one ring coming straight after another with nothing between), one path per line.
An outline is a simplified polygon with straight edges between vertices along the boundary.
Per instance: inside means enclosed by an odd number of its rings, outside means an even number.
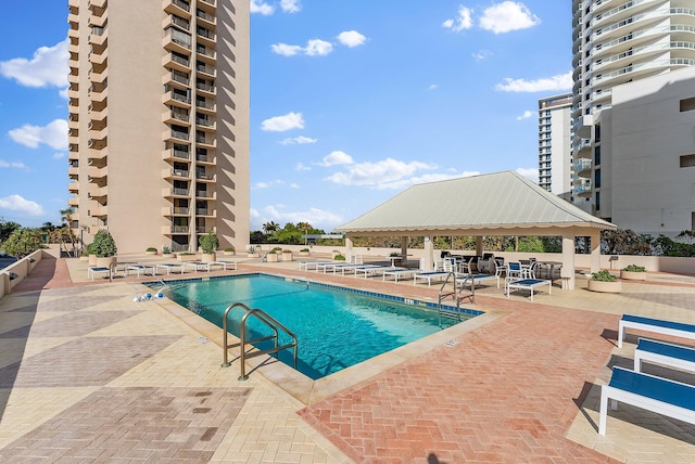
M539 184L571 199L572 94L539 100Z

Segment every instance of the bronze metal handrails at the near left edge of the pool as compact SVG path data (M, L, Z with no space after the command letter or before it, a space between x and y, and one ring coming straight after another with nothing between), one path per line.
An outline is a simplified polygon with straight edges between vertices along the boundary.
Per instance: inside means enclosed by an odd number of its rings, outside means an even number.
M239 328L239 343L229 345L228 344L229 332L227 332L227 319L229 315L229 311L231 311L233 308L241 308L244 311L247 311L247 313L243 314L243 317L241 318L241 324ZM270 330L273 331L273 335L267 335L267 336L255 338L252 340L247 340L247 320L252 315L256 318L258 321L263 322L268 327L270 327ZM276 353L276 357L277 357L277 353L279 351L282 351L283 349L289 349L289 348L292 348L293 368L294 370L296 370L296 335L294 335L292 331L290 331L285 325L282 325L277 320L275 320L273 317L270 317L270 314L268 314L267 312L261 309L251 309L242 302L235 302L232 305L229 305L227 309L225 309L225 315L222 322L222 330L223 330L223 350L224 350L224 357L223 357L223 363L222 363L223 368L229 368L231 365L231 362L229 361L229 348L241 347L240 349L241 353L239 355L241 375L238 378L239 381L245 381L249 378L249 376L247 375L248 358L255 358L257 356L270 355L270 353ZM292 338L292 343L278 346L278 330L288 334L290 338ZM247 352L247 345L255 344L258 341L270 340L270 339L275 341L275 347L265 349L265 350L260 350L260 351Z

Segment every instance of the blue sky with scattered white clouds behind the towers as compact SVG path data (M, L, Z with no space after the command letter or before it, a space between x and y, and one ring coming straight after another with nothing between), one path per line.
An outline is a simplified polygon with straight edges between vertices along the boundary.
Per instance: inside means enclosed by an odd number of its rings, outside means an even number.
M538 181L538 101L572 86L570 1L250 1L251 230L330 232L416 183ZM4 3L0 221L60 224L67 1Z

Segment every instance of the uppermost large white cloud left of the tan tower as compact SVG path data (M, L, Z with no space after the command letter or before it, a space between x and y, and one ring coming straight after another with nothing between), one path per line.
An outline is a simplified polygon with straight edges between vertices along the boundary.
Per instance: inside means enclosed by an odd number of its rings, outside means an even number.
M68 40L53 47L40 47L31 60L17 57L0 62L0 74L26 87L67 87Z

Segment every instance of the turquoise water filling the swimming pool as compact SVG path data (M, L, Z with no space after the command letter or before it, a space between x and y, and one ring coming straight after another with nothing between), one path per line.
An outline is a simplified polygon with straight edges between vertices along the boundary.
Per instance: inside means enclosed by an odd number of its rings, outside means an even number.
M442 330L438 311L424 302L405 304L399 301L402 298L265 274L178 281L163 293L219 327L232 302L262 309L296 335L298 370L314 379ZM243 314L242 309L230 312L228 328L237 336ZM270 334L255 318L247 324L249 339ZM281 334L280 345L287 343L290 338ZM257 347L270 346L264 341ZM279 359L292 365L291 350L281 351Z

